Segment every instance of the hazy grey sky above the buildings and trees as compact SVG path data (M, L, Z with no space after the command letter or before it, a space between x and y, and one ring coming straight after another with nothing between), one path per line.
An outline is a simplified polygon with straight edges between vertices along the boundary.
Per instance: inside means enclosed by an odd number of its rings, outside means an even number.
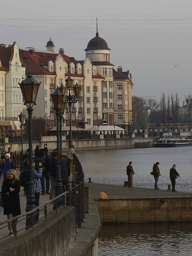
M82 60L97 15L110 62L132 73L132 94L159 100L162 92L178 92L182 103L192 93L191 10L191 0L4 1L0 43L45 50L51 34L56 52L62 47Z

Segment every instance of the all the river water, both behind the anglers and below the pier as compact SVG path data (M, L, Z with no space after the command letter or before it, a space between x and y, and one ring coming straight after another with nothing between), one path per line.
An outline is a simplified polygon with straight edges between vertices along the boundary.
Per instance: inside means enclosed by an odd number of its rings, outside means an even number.
M93 182L123 185L127 180L126 166L132 161L138 175L133 176L133 186L154 188L150 172L158 161L164 176L159 178L159 188L167 189L171 184L169 170L176 164L183 179L176 180L176 189L192 191L192 147L106 149L78 151L78 154L85 180L91 177ZM105 224L99 236L99 255L192 256L191 244L192 223Z

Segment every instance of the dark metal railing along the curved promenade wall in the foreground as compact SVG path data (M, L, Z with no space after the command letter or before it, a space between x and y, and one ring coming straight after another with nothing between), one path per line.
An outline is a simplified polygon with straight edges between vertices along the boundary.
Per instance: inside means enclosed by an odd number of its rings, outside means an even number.
M75 182L72 182L71 189L62 193L61 195L53 198L50 201L47 201L35 209L21 214L17 217L11 218L9 220L0 222L0 230L7 228L8 223L12 223L13 234L17 238L17 234L26 229L32 228L35 229L35 224L45 220L48 221L49 215L52 212L57 214L59 208L64 209L66 206L75 207L75 221L76 226L81 227L81 223L84 219L84 173L82 165L79 159L74 154L73 162L75 163L76 172L78 172L78 179ZM24 225L24 222L26 225ZM19 230L17 230L17 225L20 225ZM0 240L7 238L8 236L1 236Z

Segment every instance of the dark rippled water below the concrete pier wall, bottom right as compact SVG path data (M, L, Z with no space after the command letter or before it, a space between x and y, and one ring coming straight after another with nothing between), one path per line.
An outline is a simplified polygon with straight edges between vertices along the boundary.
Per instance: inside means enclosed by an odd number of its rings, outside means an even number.
M192 223L105 225L99 255L192 255Z

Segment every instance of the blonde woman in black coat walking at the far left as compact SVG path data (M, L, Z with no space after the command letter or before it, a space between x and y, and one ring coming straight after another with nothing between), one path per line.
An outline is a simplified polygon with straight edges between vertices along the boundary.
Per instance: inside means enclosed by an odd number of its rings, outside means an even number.
M20 209L20 181L17 180L17 172L13 169L7 171L7 180L3 181L4 215L11 219L21 214ZM12 223L8 222L9 236L13 236Z

